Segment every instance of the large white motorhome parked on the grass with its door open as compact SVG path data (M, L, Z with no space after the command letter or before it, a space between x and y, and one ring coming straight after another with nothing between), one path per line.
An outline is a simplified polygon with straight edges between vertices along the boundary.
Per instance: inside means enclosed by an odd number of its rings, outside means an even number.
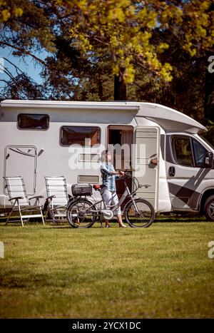
M214 220L214 148L198 134L205 130L154 103L1 101L0 206L9 205L6 176L22 176L28 195L44 198L45 176L65 176L70 194L73 184L101 183L101 156L111 146L115 168L145 185L137 196L156 212L203 212Z

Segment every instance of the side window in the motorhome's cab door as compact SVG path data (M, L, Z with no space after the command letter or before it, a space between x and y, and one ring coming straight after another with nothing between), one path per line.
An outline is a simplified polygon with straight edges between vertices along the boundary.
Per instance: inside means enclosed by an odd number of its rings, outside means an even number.
M193 167L190 138L173 138L173 152L178 164Z

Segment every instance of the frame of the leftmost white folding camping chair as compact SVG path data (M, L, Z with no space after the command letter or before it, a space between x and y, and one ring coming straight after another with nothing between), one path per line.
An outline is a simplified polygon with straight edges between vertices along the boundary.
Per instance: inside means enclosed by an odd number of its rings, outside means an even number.
M41 217L41 220L43 222L43 224L45 224L44 222L44 216L43 216L43 212L42 212L42 205L40 204L39 199L44 198L42 195L36 195L34 197L29 198L26 195L26 188L24 185L24 179L21 176L17 176L17 177L4 177L4 180L6 181L6 187L9 188L9 185L7 183L7 180L11 179L11 178L19 178L19 180L21 180L21 187L22 187L22 192L25 194L25 196L19 196L19 197L11 197L11 193L10 190L9 192L9 201L11 202L11 200L14 200L14 204L12 205L11 211L9 212L9 216L7 217L6 220L6 224L7 225L9 223L10 217L12 215L13 212L19 212L19 217L21 220L21 225L22 227L24 227L24 219L28 219L31 217ZM19 200L23 200L26 199L26 201L29 201L29 205L21 205L21 203L19 202ZM30 200L35 199L35 203L34 205L31 205ZM18 207L17 207L17 206ZM22 212L40 212L39 214L29 214L29 215L23 215ZM14 221L13 221L14 222Z

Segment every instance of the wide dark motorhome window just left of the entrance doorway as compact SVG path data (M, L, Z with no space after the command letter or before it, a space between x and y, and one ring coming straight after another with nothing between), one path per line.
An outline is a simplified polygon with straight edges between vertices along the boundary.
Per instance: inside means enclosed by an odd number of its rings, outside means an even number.
M62 126L61 145L92 146L100 143L101 129L86 126Z

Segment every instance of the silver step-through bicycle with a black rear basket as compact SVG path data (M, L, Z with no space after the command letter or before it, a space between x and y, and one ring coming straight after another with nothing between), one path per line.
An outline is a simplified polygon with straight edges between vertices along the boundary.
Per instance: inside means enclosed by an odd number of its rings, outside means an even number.
M133 184L135 185L135 190L131 193L128 185L126 184L126 180L131 178L133 180ZM148 202L148 200L142 198L134 198L136 195L136 191L138 188L142 188L145 186L148 188L151 185L140 185L137 178L133 177L130 173L125 173L123 177L120 178L124 181L125 190L118 201L117 205L106 206L105 201L102 198L102 186L101 185L93 185L95 190L98 190L101 193L101 200L96 203L93 203L91 200L88 200L86 196L92 194L92 186L88 185L72 185L72 193L73 196L77 198L68 203L66 209L66 215L69 224L71 227L75 228L87 228L91 227L98 217L103 218L104 220L111 220L114 216L114 212L121 206L123 201L126 198L130 200L126 203L123 209L123 215L125 217L126 222L131 227L149 227L154 219L155 219L155 210L153 205ZM83 195L85 198L83 198ZM103 203L104 209L98 208L98 205L101 206ZM102 222L101 222L102 225Z

